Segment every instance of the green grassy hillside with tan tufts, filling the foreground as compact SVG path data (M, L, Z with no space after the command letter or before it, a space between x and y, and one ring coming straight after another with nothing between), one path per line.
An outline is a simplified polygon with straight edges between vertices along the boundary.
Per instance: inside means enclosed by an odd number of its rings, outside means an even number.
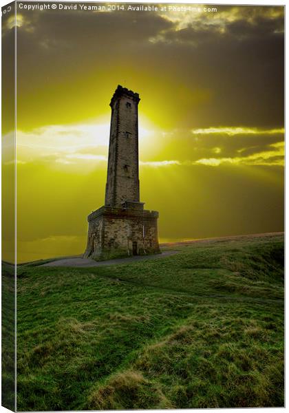
M283 236L171 248L19 267L18 410L283 406Z

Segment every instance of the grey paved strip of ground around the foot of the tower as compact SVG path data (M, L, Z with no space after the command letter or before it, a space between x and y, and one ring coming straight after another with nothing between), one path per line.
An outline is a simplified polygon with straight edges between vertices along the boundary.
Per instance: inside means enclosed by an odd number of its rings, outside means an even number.
M129 264L130 262L142 261L142 260L156 260L158 258L169 257L169 255L177 254L180 251L162 251L161 254L153 255L133 255L133 257L117 258L116 260L107 261L94 261L87 258L71 257L64 258L63 260L56 260L47 262L41 266L67 266L67 267L89 267L89 266L104 266L114 264Z

